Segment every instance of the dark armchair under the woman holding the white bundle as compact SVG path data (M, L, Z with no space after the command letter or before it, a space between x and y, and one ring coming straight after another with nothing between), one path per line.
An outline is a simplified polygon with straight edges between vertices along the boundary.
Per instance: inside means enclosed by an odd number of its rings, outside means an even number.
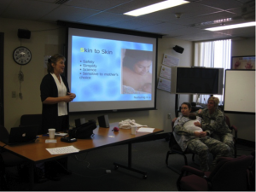
M187 160L186 155L187 154L193 154L192 155L192 160L193 160L193 162L195 162L195 154L192 151L190 151L189 148L186 148L186 150L183 151L179 147L179 145L177 144L177 142L176 142L176 140L173 136L173 125L174 125L174 122L172 121L172 132L170 133L170 137L169 137L169 148L170 148L170 150L167 151L167 154L166 154L166 166L168 168L172 169L172 171L177 172L176 169L174 169L172 166L169 166L169 164L168 164L169 155L170 154L180 154L180 155L182 155L183 158L184 158L185 166L188 166L188 160ZM179 174L180 172L177 172L177 173Z

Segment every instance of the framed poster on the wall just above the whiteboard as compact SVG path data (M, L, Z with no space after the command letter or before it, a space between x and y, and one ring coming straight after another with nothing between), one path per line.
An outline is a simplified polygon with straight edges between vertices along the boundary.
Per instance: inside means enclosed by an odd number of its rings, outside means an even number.
M256 69L256 55L232 56L231 69Z

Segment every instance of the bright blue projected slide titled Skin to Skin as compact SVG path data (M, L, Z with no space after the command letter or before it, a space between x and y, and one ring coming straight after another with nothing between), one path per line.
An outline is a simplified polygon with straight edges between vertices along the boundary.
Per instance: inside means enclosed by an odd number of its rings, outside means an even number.
M73 102L151 100L152 50L152 44L73 36Z

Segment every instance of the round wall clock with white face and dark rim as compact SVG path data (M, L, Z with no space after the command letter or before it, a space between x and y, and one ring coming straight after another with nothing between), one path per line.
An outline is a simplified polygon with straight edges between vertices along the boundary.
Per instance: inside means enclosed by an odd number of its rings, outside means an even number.
M14 60L19 65L26 65L32 59L32 54L26 47L18 47L15 49L13 54Z

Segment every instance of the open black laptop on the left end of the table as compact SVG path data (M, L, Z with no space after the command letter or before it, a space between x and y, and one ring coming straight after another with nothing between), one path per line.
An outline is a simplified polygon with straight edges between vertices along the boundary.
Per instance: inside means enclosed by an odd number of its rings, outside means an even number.
M38 125L13 127L10 132L0 126L0 141L8 145L35 142L37 134Z

